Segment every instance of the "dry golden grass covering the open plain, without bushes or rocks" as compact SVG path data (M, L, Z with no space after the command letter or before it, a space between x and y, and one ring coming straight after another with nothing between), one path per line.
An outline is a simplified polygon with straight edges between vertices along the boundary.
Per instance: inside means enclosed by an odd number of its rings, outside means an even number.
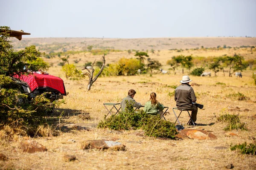
M185 38L184 38L185 39ZM192 38L191 38L192 39ZM207 39L207 38L205 38ZM222 41L232 38L221 38ZM239 38L233 38L239 39ZM244 38L245 39L245 38ZM244 40L243 39L243 40ZM30 40L30 39L29 39ZM163 40L169 40L168 38ZM171 40L173 40L171 38ZM216 38L218 40L218 38ZM227 46L232 45L233 40L224 42ZM241 40L241 39L239 39ZM236 40L239 45L256 45L256 39L245 44ZM63 40L64 42L65 40ZM104 39L104 41L107 41ZM110 41L110 40L109 40ZM119 40L125 41L125 40ZM141 40L142 44L154 45ZM149 42L148 42L149 41ZM182 40L185 41L185 40ZM193 42L193 40L191 40ZM203 40L202 40L203 41ZM213 40L212 40L213 41ZM74 43L77 41L74 41ZM239 43L238 43L239 42ZM16 43L16 42L15 42ZM173 42L172 42L173 43ZM175 42L176 43L176 42ZM197 42L200 46L213 47L221 45L208 44ZM210 43L210 42L209 42ZM135 42L137 44L137 42ZM179 44L179 43L178 43ZM119 45L119 46L118 46ZM222 44L223 45L223 44ZM135 47L124 47L123 44L113 44L115 49L128 50L136 49ZM141 45L140 45L141 46ZM144 47L143 47L144 48ZM142 49L143 49L142 48ZM154 47L153 47L154 48ZM176 48L176 47L174 47ZM178 48L195 48L190 45ZM140 50L142 50L140 48ZM144 48L146 50L147 48ZM148 48L148 50L150 50ZM157 50L157 48L154 48ZM240 48L237 50L223 49L218 51L204 50L188 50L188 51L169 51L168 48L159 48L154 54L148 52L150 58L157 59L163 64L164 69L170 68L166 65L166 60L171 59L175 55L190 55L209 57L221 56L224 54L233 55L234 53L241 54L245 59L256 59L256 52L251 52L248 48ZM111 52L108 54L106 64L114 63L121 57L134 57L134 52L128 54L127 51ZM93 62L94 59L99 60L101 55L92 55L90 53L80 53L70 55L70 63L73 60L81 58L81 61L76 64L81 67L85 62ZM49 68L49 74L59 76L64 79L66 91L69 93L64 97L66 104L62 104L56 108L52 117L48 117L48 121L54 121L52 127L58 129L58 124L82 123L90 125L92 128L85 130L77 130L76 128L70 131L62 130L58 136L34 137L36 142L43 144L47 148L47 152L23 153L19 149L20 142L28 139L27 136L15 136L12 140L5 138L6 132L0 131L0 153L8 157L7 161L0 160L0 169L42 169L42 170L98 170L98 169L173 169L173 170L216 170L226 169L226 164L233 164L236 170L253 170L256 169L256 156L243 155L238 151L231 151L230 145L241 144L244 142L252 143L250 136L256 137L256 85L253 84L251 78L253 70L247 68L242 72L243 77L235 76L225 77L222 72L217 74L217 77L194 77L190 76L192 83L197 83L200 86L193 86L196 93L198 103L204 105L203 109L198 110L198 126L192 127L186 125L189 117L183 113L180 121L185 128L207 130L217 136L217 139L161 139L148 137L143 135L142 130L125 130L115 131L108 129L98 129L96 125L104 119L107 110L104 108L105 102L121 102L122 98L127 96L129 89L137 91L134 99L137 102L145 104L149 99L149 94L155 92L157 99L168 106L169 110L165 116L168 121L175 122L175 116L172 108L175 107L174 96L170 96L175 89L172 85L179 85L183 74L181 68L177 70L177 74L160 74L155 71L155 74L137 75L137 76L120 76L120 77L99 77L93 84L90 91L86 90L87 79L73 81L66 79L61 72L61 66L58 66L60 59L58 57L52 59L44 59L52 64ZM185 70L184 74L188 74ZM213 73L212 73L213 75ZM222 85L221 85L222 84ZM232 94L244 94L246 100L238 100L237 97L232 97ZM235 109L238 107L239 109ZM64 114L61 115L62 111ZM238 136L226 136L223 122L218 122L216 116L224 113L239 114L241 122L245 122L248 130L232 130ZM91 119L84 120L81 114L89 114ZM58 116L60 118L58 119ZM54 118L54 119L52 119ZM76 142L70 142L73 139ZM110 139L120 142L126 146L125 151L113 150L82 150L81 143L90 139ZM76 156L76 161L65 161L64 155Z

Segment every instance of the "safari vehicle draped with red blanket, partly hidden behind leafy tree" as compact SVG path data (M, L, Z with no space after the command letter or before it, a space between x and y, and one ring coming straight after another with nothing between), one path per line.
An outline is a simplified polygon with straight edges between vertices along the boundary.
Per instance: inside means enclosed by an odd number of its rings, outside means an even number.
M10 37L15 37L18 40L22 39L22 35L30 35L30 33L26 33L23 30L11 30L9 33ZM20 84L20 91L28 94L28 99L32 99L45 92L47 92L45 97L50 99L50 101L63 99L63 96L67 95L64 81L59 77L49 75L45 71L31 72L28 75L16 75L14 79ZM22 101L23 99L19 100Z

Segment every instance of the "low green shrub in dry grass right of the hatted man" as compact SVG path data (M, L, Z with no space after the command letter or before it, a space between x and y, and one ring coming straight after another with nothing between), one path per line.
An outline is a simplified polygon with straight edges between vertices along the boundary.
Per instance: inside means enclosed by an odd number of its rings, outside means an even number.
M217 120L219 122L228 123L227 127L225 127L224 130L247 130L245 123L240 122L239 115L223 114L217 117Z

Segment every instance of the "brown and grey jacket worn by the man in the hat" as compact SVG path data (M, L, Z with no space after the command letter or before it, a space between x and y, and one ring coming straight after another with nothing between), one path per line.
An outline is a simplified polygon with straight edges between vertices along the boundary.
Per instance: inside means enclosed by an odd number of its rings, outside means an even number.
M182 83L175 89L174 99L179 110L190 109L192 108L192 102L196 102L195 92L187 83Z

